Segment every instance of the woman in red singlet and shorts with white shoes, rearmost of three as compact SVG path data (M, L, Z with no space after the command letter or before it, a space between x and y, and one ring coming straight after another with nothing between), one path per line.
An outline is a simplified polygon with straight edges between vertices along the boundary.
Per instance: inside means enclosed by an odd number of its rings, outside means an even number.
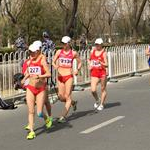
M106 84L107 84L107 53L102 47L103 40L96 39L95 49L91 51L89 67L91 73L91 91L96 102L94 108L97 110L104 109L104 102L106 100ZM101 83L101 96L97 94L97 85ZM100 100L101 99L101 100Z

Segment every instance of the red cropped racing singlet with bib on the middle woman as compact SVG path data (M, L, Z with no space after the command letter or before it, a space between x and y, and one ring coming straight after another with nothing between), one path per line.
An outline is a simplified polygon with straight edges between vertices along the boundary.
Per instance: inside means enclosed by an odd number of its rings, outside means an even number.
M65 54L64 53L64 50L62 49L60 51L60 54L59 54L59 67L62 67L62 68L72 68L72 64L73 64L73 51L72 50L69 50L69 53L68 54Z

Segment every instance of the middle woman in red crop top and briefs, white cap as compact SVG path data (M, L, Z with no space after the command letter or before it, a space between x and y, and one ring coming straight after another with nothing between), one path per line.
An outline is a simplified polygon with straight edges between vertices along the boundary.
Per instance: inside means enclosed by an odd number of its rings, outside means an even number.
M74 111L76 110L76 101L71 98L72 86L73 86L73 75L78 75L78 71L81 68L81 60L77 52L71 49L71 38L64 36L62 38L63 49L58 50L53 59L53 66L58 71L58 95L62 102L65 102L65 109L58 122L65 122L66 116L69 112L71 105ZM73 60L77 60L77 70L73 72Z

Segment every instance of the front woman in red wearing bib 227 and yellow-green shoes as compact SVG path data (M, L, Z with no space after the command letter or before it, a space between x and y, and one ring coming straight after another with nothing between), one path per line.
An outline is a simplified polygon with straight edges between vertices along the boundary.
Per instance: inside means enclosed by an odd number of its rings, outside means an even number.
M35 138L34 126L34 108L35 102L37 105L38 117L44 118L46 122L46 128L50 128L52 125L52 118L45 115L43 112L43 106L46 100L46 79L51 76L45 57L41 54L38 43L33 43L29 46L30 58L27 62L27 69L25 77L22 80L24 83L29 79L29 84L26 85L26 101L28 106L28 121L29 121L29 134L27 139Z

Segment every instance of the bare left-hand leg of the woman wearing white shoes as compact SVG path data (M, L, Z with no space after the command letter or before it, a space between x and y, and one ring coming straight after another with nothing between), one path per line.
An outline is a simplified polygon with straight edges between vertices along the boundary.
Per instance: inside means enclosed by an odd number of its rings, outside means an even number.
M92 95L93 95L94 99L96 100L96 102L99 102L99 97L97 94L98 82L99 82L99 78L91 77L91 92L92 92Z

